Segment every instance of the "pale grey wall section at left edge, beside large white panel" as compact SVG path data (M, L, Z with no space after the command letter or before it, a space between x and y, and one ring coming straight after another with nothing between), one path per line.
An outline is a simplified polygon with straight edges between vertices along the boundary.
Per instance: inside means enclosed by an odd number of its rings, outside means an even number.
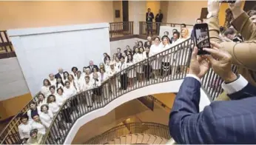
M28 92L17 58L0 59L0 101Z

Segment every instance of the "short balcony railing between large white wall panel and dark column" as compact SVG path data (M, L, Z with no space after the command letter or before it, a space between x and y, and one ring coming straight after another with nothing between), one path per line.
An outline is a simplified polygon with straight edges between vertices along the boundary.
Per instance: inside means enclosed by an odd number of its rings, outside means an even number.
M133 35L133 21L110 23L110 38Z

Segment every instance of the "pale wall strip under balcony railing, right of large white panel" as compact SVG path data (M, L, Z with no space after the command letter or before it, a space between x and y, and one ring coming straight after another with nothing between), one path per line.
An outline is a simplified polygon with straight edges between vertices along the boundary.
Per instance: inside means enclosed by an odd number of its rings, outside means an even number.
M143 41L143 44L146 41L146 40L141 39L141 38L128 38L128 39L124 39L124 40L111 41L110 42L110 55L111 55L111 57L114 53L116 53L118 47L121 48L121 52L124 52L124 50L126 50L127 45L129 45L129 47L133 49L133 47L135 46L135 41L136 40Z

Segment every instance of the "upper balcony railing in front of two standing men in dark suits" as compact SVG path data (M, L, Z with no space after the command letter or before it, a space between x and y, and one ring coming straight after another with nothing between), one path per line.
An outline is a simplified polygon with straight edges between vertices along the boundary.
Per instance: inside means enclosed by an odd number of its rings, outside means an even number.
M160 32L160 26L169 26L169 27L181 27L181 24L176 23L160 23L160 22L139 22L139 34L146 36L158 36ZM192 27L192 24L186 24L187 27Z

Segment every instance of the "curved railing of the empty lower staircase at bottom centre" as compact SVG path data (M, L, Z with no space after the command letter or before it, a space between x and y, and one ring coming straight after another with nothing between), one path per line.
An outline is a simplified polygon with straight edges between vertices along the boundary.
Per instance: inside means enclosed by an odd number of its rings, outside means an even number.
M101 135L97 135L94 138L91 138L84 144L107 144L109 141L112 141L115 138L120 138L122 136L132 134L155 135L166 140L171 138L169 136L169 127L164 124L157 124L152 122L136 122L114 127L107 132L102 133Z

